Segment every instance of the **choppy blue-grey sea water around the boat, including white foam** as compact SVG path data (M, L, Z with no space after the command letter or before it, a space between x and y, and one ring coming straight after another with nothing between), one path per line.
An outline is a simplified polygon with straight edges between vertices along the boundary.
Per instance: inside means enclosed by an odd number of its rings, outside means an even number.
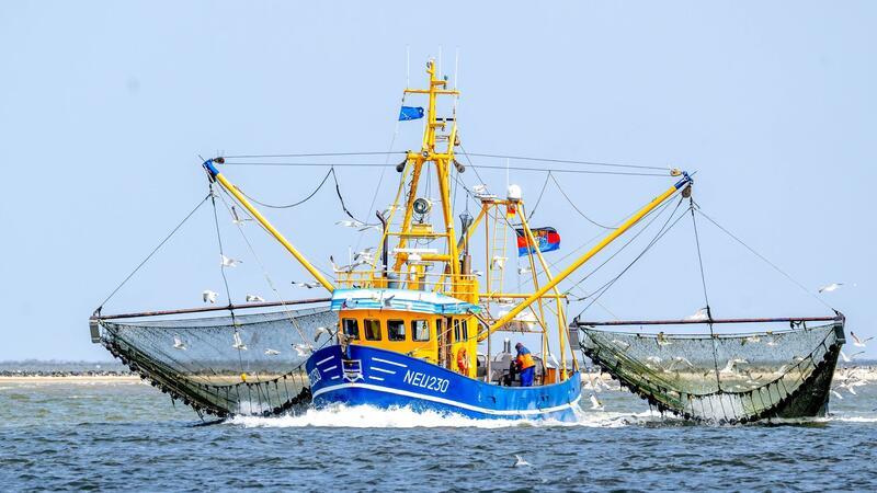
M192 411L136 381L0 381L0 485L875 491L877 382L856 391L833 398L827 419L742 426L665 419L622 391L601 392L605 411L572 424L337 408L194 426Z

